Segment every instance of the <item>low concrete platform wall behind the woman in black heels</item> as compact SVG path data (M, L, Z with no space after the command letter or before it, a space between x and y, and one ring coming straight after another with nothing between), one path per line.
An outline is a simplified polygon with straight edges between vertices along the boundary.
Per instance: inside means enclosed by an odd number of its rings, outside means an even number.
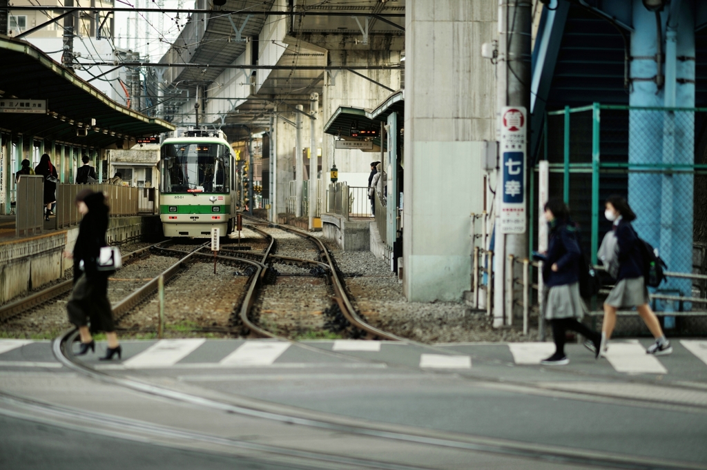
M110 219L107 239L109 243L161 233L158 216L115 217ZM71 259L62 256L64 249L73 250L78 227L38 235L36 237L8 240L0 245L0 303L7 302L29 290L64 276L73 269Z

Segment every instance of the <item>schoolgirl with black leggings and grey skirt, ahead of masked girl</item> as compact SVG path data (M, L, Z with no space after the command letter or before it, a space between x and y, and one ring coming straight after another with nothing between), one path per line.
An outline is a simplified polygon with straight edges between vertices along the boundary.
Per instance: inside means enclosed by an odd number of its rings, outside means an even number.
M565 354L567 331L576 331L595 346L600 347L602 336L590 330L579 320L587 307L579 290L579 231L570 219L569 208L560 199L550 199L545 204L545 220L550 226L547 253L542 278L545 283L544 312L552 327L555 352L542 360L544 365L565 365L570 362ZM599 356L595 349L595 358Z

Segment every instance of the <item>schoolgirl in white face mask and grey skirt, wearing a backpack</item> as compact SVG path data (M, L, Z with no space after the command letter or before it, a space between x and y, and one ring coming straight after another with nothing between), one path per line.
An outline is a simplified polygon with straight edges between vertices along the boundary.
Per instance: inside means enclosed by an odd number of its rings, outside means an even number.
M633 230L631 221L636 220L636 214L631 211L629 203L621 196L610 196L606 201L604 216L612 221L612 230L616 235L618 245L618 274L616 285L612 288L607 300L604 301L604 324L602 325L602 353L607 351L607 341L612 336L617 322L617 310L621 307L636 307L638 315L645 322L655 337L655 343L645 351L655 356L672 353L670 341L665 338L658 317L648 305L648 288L643 278L643 257L639 238ZM615 262L616 260L614 260Z

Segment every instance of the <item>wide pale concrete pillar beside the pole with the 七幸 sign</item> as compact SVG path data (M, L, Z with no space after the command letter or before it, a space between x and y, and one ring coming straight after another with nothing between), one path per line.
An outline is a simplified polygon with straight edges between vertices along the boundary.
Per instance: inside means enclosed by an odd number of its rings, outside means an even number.
M469 289L469 213L484 203L484 140L496 134L495 0L406 4L403 289L460 300Z

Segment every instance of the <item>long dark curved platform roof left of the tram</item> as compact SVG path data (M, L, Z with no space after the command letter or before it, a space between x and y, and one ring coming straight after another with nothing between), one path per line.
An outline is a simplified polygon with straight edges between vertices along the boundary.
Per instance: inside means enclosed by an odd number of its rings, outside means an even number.
M0 101L47 100L46 114L0 112L6 131L94 148L123 147L124 141L175 129L110 100L47 54L23 40L0 35ZM91 126L95 119L95 126ZM76 129L88 128L87 136Z

